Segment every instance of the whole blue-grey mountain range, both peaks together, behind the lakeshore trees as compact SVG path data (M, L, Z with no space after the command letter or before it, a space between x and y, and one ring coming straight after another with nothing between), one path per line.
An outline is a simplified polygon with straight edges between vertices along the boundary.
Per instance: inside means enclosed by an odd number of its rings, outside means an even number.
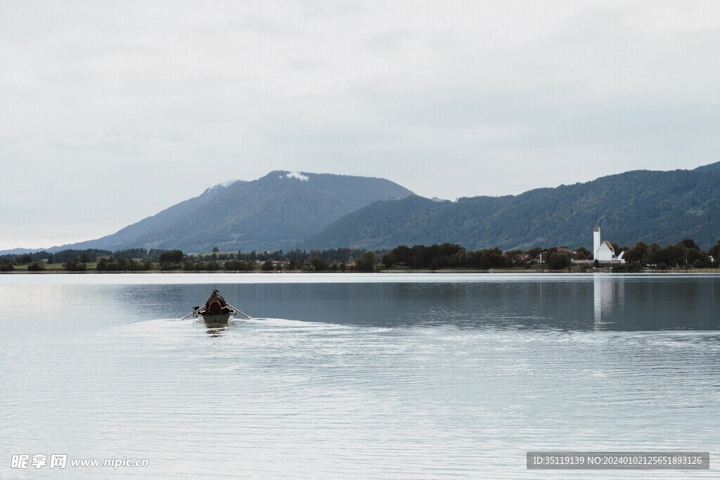
M616 243L709 247L720 235L720 162L692 170L634 170L518 195L426 199L384 178L271 171L209 187L112 235L68 248L390 249L588 246L594 225Z

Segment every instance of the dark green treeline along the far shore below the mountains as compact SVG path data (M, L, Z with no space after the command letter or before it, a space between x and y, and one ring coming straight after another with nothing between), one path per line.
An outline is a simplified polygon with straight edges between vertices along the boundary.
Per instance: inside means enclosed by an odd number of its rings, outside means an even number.
M181 250L87 249L37 251L0 256L0 272L374 272L441 270L592 271L616 272L690 271L720 266L720 240L707 251L686 238L665 247L638 242L632 248L613 244L624 252L624 263L598 263L585 247L468 251L461 245L400 245L392 250L274 250L271 252L184 253Z

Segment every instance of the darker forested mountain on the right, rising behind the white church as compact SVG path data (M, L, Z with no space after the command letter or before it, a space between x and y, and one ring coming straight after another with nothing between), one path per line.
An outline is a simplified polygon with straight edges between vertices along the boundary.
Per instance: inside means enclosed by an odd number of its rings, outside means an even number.
M591 247L603 240L632 246L693 238L709 248L720 237L720 162L694 170L629 171L584 184L520 195L432 201L379 201L346 215L306 248L395 248L459 243L469 249Z

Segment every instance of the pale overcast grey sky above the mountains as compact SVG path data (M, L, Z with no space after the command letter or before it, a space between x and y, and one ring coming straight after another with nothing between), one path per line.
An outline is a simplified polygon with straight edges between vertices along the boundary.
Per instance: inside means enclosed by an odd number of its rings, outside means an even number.
M0 1L0 250L274 170L442 199L720 160L717 1Z

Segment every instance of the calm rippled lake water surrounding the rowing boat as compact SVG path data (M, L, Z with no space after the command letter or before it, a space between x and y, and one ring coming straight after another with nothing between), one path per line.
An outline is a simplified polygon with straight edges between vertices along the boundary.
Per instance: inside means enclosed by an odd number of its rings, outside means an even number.
M216 288L253 320L179 320ZM718 477L720 276L9 274L0 312L2 478Z

